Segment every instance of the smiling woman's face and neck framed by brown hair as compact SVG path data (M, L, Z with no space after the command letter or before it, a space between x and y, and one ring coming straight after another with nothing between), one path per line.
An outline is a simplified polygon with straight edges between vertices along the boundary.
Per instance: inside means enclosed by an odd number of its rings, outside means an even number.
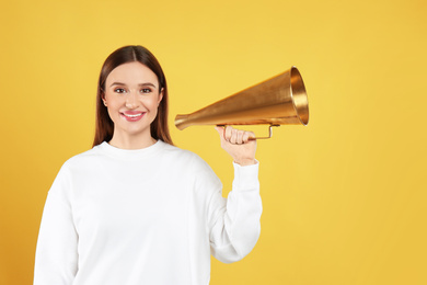
M113 69L105 81L104 103L114 123L114 137L147 136L163 98L158 77L134 61Z

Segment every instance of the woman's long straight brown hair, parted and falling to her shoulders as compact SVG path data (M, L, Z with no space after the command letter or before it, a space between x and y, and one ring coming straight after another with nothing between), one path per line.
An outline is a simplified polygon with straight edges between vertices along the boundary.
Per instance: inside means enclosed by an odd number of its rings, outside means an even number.
M158 77L159 90L163 89L163 99L160 102L158 115L150 126L151 136L154 139L161 139L164 142L173 145L168 127L168 84L163 70L158 59L147 48L142 46L124 46L113 52L113 54L111 54L107 59L105 59L105 62L101 69L100 79L97 82L96 126L93 146L97 146L103 141L109 141L113 138L114 133L114 123L109 118L107 109L103 103L105 80L109 72L113 71L113 69L119 65L132 61L138 61L147 66Z

